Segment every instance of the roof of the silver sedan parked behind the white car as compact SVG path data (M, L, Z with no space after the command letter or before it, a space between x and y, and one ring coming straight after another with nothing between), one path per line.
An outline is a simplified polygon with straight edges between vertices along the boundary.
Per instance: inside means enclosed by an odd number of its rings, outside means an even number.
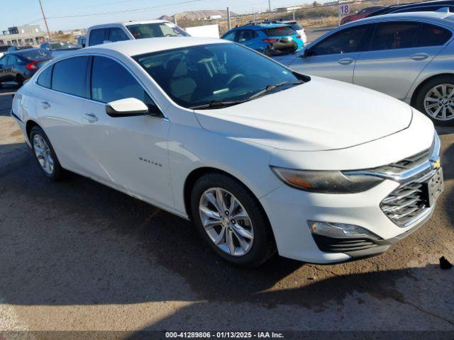
M345 23L341 26L342 28L348 26L356 26L364 23L372 23L377 21L389 21L389 20L414 20L414 21L431 21L433 23L440 23L449 26L454 25L454 14L449 12L404 12L404 13L391 13L384 14L382 16L370 16L368 18L360 19L358 21L352 21L351 23Z

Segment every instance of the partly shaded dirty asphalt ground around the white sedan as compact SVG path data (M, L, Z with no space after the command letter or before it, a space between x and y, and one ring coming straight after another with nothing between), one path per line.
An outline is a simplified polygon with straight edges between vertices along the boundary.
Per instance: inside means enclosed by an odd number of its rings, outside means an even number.
M0 91L0 331L454 331L454 268L438 266L454 262L453 128L436 212L387 253L242 270L179 217L81 176L48 181L9 117L15 90Z

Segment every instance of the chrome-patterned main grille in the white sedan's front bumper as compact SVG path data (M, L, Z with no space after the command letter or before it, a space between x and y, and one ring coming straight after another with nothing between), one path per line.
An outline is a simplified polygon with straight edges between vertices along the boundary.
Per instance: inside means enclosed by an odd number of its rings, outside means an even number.
M426 185L419 180L399 186L380 203L382 211L399 227L414 220L427 206Z

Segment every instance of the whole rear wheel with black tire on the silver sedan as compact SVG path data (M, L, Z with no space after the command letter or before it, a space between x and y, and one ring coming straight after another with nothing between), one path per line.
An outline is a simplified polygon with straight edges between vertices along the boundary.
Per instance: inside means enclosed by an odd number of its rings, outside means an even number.
M445 88L444 94L443 87ZM438 96L435 89L441 96ZM454 92L453 96L449 97L451 91L454 91L454 76L440 76L431 79L423 84L416 94L415 108L427 115L435 125L454 125ZM426 98L433 99L426 101ZM437 111L438 108L441 109Z

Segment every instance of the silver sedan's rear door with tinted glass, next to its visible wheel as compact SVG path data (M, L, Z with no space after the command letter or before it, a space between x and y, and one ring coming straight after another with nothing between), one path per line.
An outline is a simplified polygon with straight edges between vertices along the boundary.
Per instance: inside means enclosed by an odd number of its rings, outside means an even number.
M370 46L356 60L353 83L403 100L451 36L447 28L429 23L378 23Z

